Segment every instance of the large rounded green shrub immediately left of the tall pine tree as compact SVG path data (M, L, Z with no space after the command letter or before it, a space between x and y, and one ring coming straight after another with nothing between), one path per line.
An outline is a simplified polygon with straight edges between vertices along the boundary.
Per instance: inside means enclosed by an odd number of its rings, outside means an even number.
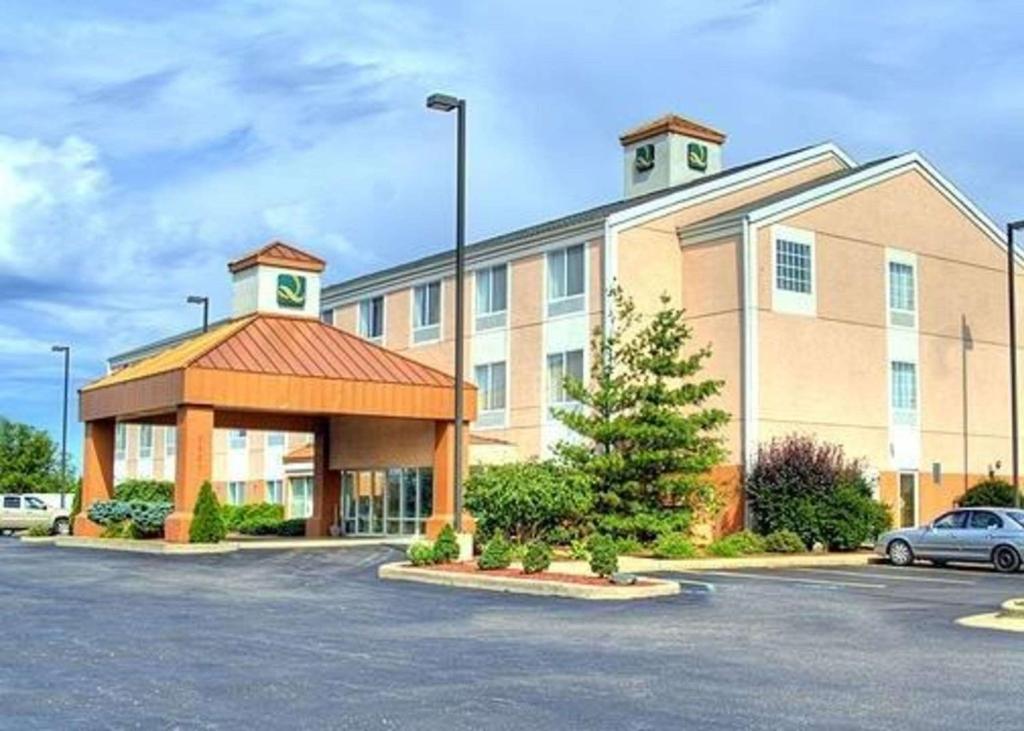
M481 535L526 543L579 521L590 507L586 479L552 462L489 465L466 480L466 508Z

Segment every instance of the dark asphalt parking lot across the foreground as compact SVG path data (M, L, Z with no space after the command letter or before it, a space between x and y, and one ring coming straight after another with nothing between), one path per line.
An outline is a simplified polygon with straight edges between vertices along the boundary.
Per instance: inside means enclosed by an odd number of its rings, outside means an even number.
M0 727L1020 729L1024 574L678 574L579 602L378 582L399 554L0 540Z

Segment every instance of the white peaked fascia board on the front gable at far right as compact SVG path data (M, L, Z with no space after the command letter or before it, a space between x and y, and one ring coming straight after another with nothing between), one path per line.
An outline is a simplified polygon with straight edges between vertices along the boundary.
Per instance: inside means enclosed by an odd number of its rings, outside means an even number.
M862 172L854 173L840 180L811 188L793 198L777 201L764 208L755 209L748 213L748 218L758 226L767 225L870 185L876 185L911 169L921 172L939 192L945 196L953 206L970 218L983 233L991 239L996 246L1006 251L1007 242L999 227L919 153L900 155L888 162L867 168ZM1019 262L1024 263L1024 256L1018 254L1017 258Z

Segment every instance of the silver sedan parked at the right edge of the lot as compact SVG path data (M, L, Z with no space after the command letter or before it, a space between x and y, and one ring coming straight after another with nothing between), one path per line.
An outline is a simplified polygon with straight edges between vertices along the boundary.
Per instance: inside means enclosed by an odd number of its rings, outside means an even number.
M991 563L998 571L1013 573L1024 556L1024 510L951 510L928 525L883 533L874 553L887 556L894 566L908 566L915 559L936 565L967 561Z

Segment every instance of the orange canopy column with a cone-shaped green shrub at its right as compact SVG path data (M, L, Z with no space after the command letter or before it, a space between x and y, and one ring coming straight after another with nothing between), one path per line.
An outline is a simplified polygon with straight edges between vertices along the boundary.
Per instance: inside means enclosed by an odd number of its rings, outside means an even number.
M174 512L167 516L164 538L186 544L200 487L213 476L213 407L178 406L177 422Z

